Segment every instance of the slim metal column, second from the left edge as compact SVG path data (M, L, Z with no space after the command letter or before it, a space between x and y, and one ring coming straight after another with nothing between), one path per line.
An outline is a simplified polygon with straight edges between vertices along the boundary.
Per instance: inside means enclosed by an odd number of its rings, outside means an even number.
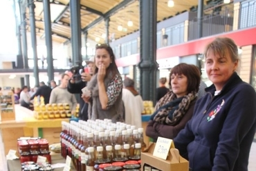
M29 21L30 21L30 32L31 32L31 43L33 48L33 59L34 59L34 77L35 85L39 86L39 70L37 65L37 34L35 33L35 4L33 0L28 0L29 8Z

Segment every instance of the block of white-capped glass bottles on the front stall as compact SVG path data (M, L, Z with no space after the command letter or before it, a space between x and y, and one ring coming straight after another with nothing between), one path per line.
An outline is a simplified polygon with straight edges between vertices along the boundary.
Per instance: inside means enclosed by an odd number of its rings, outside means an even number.
M145 148L143 128L104 121L62 122L62 157L71 157L77 171L102 163L140 160Z

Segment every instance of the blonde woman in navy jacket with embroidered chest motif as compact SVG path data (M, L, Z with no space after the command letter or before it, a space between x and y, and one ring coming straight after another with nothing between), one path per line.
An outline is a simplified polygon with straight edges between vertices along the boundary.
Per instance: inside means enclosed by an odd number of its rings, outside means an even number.
M217 38L205 48L205 69L213 85L196 101L192 119L174 139L193 171L248 170L256 94L235 72L238 63L232 39Z

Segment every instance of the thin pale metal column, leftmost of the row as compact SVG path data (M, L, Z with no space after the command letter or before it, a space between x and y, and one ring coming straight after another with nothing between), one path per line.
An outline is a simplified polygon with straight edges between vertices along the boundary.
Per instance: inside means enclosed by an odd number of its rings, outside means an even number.
M24 68L28 69L28 43L27 43L27 32L26 32L26 6L21 5L19 1L19 12L21 17L21 39L22 39L22 53L23 53L23 63ZM30 86L29 74L25 75L26 86Z

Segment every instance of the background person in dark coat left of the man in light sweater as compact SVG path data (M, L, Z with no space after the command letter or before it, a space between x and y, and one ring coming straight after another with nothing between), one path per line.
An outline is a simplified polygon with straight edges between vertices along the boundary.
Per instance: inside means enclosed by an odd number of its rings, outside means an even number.
M37 89L35 94L33 94L33 96L30 97L30 100L33 100L37 96L40 96L40 97L42 96L44 97L44 104L48 104L51 96L51 91L52 89L46 86L44 81L42 81L39 83L39 88Z

